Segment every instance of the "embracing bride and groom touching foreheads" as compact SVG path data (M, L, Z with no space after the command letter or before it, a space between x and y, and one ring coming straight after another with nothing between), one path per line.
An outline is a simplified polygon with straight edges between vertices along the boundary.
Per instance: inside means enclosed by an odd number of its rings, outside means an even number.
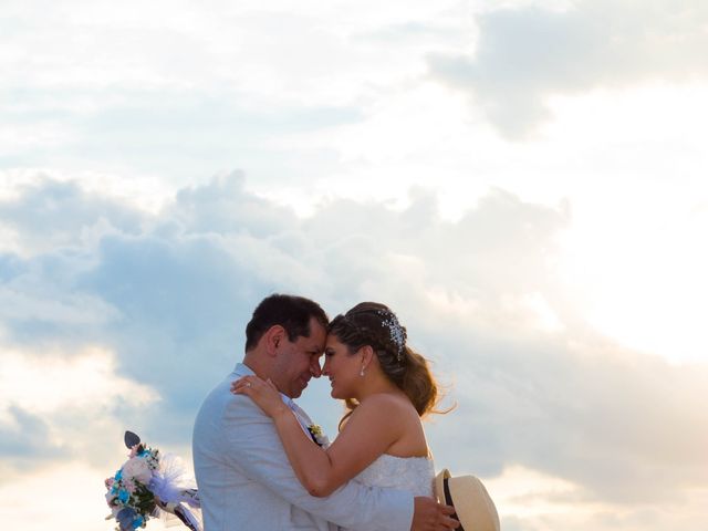
M332 445L293 402L320 375L347 406ZM266 298L243 362L195 421L205 531L455 529L454 509L433 499L420 423L436 398L387 306L363 302L330 322L309 299Z

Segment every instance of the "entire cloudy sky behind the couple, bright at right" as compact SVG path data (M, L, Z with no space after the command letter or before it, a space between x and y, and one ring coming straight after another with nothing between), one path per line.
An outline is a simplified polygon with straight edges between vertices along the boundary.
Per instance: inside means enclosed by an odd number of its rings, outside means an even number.
M3 0L0 519L112 529L124 430L189 462L287 292L398 314L456 406L436 467L502 529L705 530L707 28L702 0ZM326 382L300 404L336 433Z

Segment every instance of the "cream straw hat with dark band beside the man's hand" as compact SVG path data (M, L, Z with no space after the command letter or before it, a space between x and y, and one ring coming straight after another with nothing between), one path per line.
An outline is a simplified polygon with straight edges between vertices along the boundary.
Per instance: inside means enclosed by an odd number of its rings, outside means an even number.
M447 491L446 491L447 487ZM499 514L482 482L475 476L454 478L445 468L435 477L435 496L455 507L462 531L499 531Z

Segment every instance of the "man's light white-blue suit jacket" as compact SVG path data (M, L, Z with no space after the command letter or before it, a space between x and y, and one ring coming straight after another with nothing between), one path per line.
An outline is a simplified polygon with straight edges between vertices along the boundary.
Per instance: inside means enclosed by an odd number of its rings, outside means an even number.
M192 455L205 531L410 529L408 492L350 481L327 498L310 496L270 417L248 396L230 393L231 382L246 374L253 372L238 364L207 396L195 421Z

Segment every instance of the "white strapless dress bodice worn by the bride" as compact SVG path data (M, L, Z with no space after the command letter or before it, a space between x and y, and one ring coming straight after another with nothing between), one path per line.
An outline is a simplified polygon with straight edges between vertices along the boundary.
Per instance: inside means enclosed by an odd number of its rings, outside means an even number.
M355 478L367 487L405 490L415 496L433 497L435 466L428 457L381 455ZM403 531L403 530L402 530Z

